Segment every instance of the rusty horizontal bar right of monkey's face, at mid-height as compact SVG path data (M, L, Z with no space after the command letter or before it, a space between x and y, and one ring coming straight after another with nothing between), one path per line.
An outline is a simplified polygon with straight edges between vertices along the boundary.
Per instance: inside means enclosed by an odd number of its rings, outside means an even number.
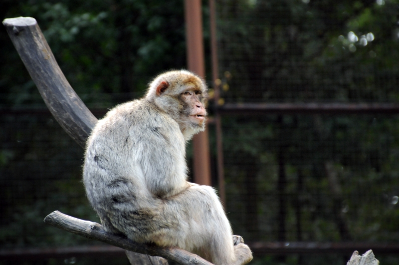
M216 107L228 114L398 114L396 103L226 103Z

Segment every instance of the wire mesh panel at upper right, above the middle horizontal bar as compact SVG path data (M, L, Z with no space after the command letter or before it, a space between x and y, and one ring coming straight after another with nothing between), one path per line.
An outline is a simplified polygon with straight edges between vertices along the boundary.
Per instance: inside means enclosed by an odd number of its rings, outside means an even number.
M395 1L216 3L226 102L398 102Z

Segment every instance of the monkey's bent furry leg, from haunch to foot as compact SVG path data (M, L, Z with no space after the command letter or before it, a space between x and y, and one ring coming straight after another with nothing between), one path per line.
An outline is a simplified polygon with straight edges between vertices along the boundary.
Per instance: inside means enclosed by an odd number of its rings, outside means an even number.
M115 203L104 216L98 213L103 225L109 222L132 241L179 247L215 265L242 265L252 260L248 246L237 240L234 244L223 207L208 186L191 184L167 199L146 197L139 203Z

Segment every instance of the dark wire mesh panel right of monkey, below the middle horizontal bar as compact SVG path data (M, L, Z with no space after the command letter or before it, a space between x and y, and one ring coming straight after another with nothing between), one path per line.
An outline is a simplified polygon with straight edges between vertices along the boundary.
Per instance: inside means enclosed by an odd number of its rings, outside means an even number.
M397 242L398 117L225 118L226 209L249 241Z

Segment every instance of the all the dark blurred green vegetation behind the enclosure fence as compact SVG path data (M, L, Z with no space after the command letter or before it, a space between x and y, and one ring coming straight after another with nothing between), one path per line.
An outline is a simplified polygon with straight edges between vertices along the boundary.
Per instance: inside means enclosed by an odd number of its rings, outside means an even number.
M182 0L2 0L0 18L36 18L66 78L100 118L143 95L156 74L186 67L183 9ZM216 0L216 17L224 102L399 103L398 0ZM4 27L0 62L0 248L96 244L43 224L54 210L99 221L81 182L83 150L46 110ZM399 243L398 115L223 116L222 125L235 234L247 242ZM210 137L215 165L212 125ZM214 166L212 174L217 187ZM375 254L382 265L399 264L398 254ZM347 258L259 256L253 264ZM21 262L61 263L128 264Z

